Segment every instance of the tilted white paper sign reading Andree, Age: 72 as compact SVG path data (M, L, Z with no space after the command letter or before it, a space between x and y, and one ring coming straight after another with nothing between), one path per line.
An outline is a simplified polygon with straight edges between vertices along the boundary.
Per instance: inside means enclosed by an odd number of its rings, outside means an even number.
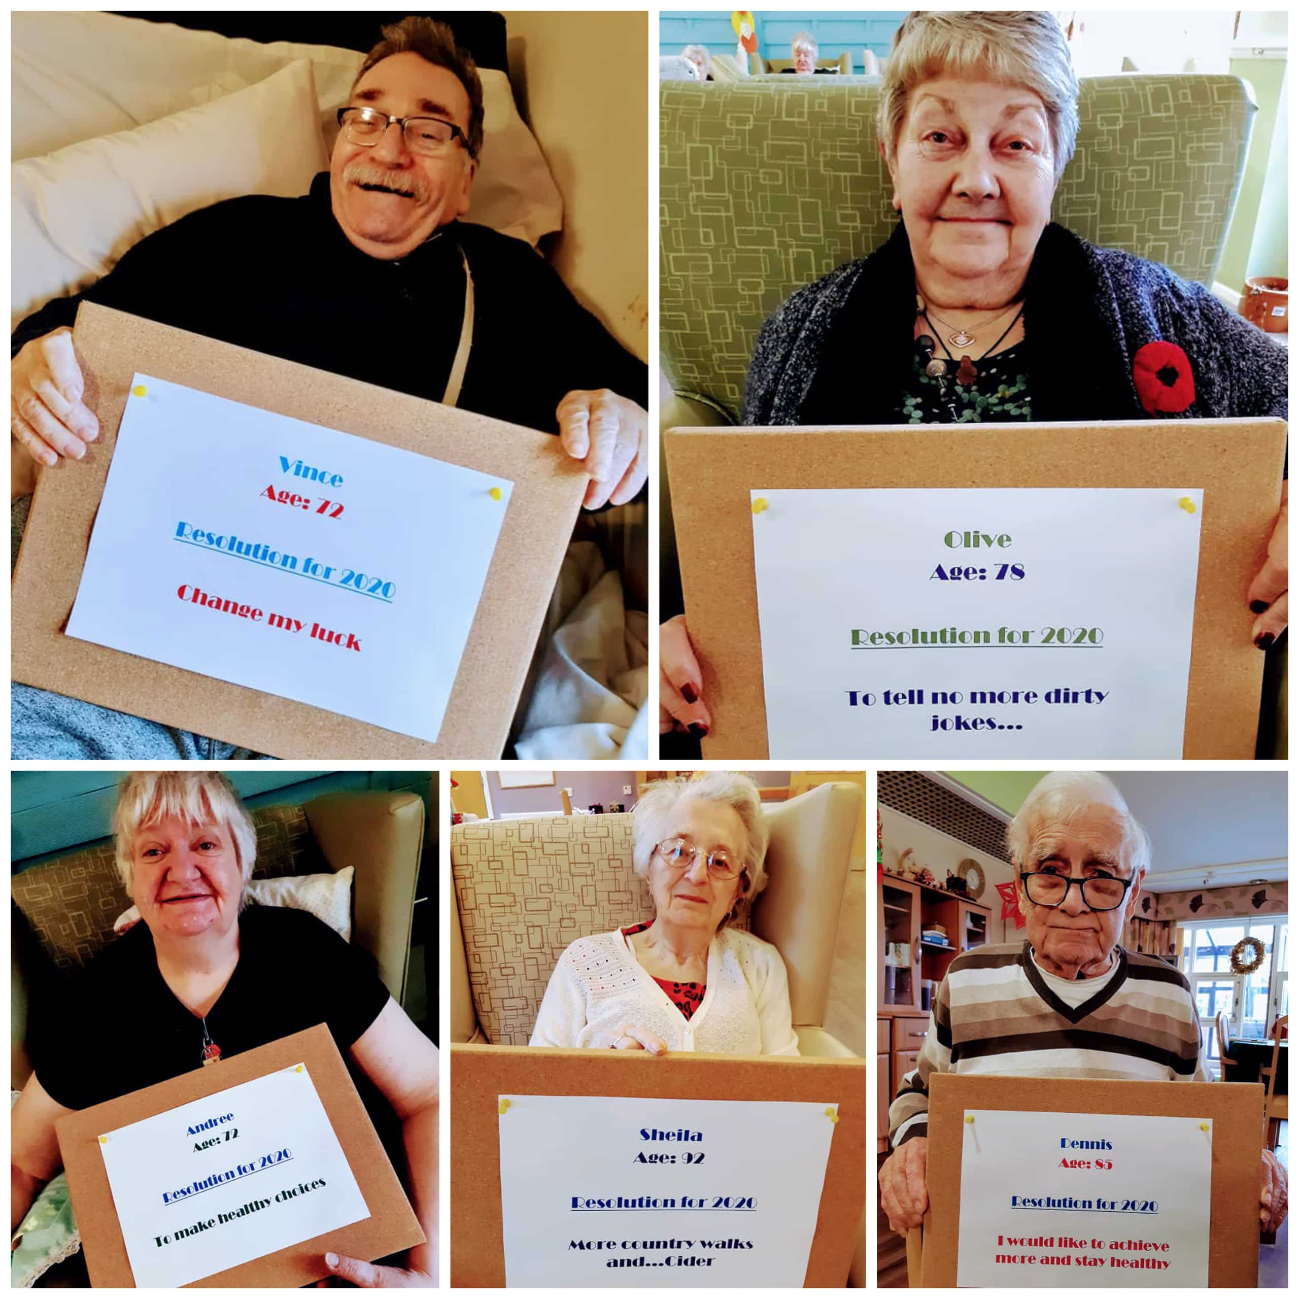
M105 1133L100 1151L136 1286L188 1285L370 1216L305 1065Z

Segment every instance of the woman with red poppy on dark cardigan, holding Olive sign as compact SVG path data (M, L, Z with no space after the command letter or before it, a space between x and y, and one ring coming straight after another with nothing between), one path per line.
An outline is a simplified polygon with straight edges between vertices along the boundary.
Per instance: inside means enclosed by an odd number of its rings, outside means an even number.
M902 220L766 321L740 423L1286 418L1283 347L1203 284L1052 223L1078 134L1052 13L909 14L876 129ZM1290 618L1287 500L1243 592L1241 637L1263 651ZM705 735L682 617L660 666L660 730Z

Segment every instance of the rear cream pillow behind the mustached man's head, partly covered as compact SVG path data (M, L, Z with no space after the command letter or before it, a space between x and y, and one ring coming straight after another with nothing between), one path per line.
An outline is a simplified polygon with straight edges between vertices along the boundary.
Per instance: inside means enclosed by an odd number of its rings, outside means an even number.
M108 13L16 13L12 23L12 157L127 130L256 84L294 60L310 60L326 152L336 110L365 56L335 45L262 44ZM378 38L378 23L375 23ZM483 151L469 221L525 239L564 226L564 199L509 78L478 69ZM17 243L14 248L19 247Z

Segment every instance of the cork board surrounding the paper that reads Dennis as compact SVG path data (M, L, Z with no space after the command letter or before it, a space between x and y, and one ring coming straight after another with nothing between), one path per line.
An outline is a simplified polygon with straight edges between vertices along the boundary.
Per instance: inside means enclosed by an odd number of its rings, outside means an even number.
M1259 1283L1259 1141L1263 1087L1247 1082L1095 1082L934 1074L930 1079L929 1213L922 1286L956 1285L966 1109L1168 1115L1213 1121L1209 1285ZM942 1169L942 1176L934 1176Z

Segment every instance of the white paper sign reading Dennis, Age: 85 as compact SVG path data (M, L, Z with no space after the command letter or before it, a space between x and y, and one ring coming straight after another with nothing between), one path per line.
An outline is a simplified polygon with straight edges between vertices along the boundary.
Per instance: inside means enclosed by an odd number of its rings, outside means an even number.
M1212 1120L964 1117L959 1286L1208 1285Z

